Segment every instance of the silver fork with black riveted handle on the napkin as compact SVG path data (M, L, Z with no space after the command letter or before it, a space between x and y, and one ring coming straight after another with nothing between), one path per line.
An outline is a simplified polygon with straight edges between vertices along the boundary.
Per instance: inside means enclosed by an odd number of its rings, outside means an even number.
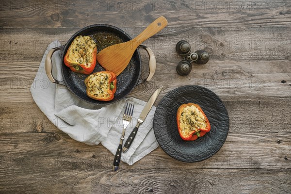
M124 111L124 114L122 117L123 130L122 130L122 135L120 138L119 146L116 150L116 154L115 154L114 161L113 161L113 171L116 171L118 169L118 166L119 166L119 162L121 159L122 144L123 144L124 135L125 135L125 129L127 128L127 126L129 125L129 123L132 119L133 108L134 108L134 104L133 105L131 103L126 104L126 108L125 108L125 111Z

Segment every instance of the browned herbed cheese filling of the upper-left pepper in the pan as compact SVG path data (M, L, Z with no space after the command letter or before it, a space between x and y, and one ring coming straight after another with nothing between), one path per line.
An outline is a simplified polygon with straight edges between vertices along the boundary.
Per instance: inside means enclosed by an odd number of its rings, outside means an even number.
M77 36L67 50L70 62L91 66L96 43L90 36Z

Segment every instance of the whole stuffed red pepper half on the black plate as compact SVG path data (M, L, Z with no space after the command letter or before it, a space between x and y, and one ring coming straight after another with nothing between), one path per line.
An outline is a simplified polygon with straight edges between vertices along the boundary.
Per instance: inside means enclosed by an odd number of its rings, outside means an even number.
M191 111L188 111L188 112L184 111L184 109L188 106L194 106L195 107L194 110L197 110L197 112L196 111L194 112L193 109L191 109ZM185 115L185 118L184 118L183 117L184 114L190 114L192 116ZM199 119L197 117L199 117ZM197 120L199 120L200 122L197 122ZM188 126L191 129L189 130L189 129L186 129L185 127L182 128L181 121L184 122L183 126ZM206 117L205 113L202 111L201 107L198 104L194 104L194 103L182 104L178 108L177 125L178 125L179 135L181 136L183 140L186 140L186 141L196 140L198 137L202 137L207 132L210 131L210 123L209 123L208 118ZM203 126L203 127L199 127L199 126Z

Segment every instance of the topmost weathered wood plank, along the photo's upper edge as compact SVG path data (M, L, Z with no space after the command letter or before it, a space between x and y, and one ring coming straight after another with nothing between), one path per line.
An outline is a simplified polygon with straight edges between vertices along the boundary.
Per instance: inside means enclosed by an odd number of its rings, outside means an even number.
M0 27L84 27L107 23L147 26L165 16L169 26L290 26L290 2L260 1L9 1L0 4Z

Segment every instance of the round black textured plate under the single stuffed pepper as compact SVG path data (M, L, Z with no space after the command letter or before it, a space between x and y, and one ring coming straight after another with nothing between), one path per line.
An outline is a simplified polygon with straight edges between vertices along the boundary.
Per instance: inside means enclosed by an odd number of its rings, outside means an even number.
M210 122L210 131L195 141L184 141L177 127L181 104L198 104ZM213 156L226 141L228 113L221 99L207 88L188 85L176 88L162 98L154 116L154 132L162 149L183 162L199 162Z

